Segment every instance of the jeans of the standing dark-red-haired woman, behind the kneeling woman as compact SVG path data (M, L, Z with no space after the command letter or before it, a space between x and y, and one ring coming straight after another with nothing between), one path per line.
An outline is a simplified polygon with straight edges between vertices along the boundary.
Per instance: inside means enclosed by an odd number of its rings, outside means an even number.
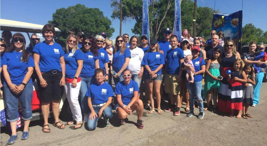
M88 90L89 86L93 83L95 83L96 78L93 77L81 77L81 110L82 114L88 114L89 108L88 108L88 102L87 98L84 98L86 91Z

